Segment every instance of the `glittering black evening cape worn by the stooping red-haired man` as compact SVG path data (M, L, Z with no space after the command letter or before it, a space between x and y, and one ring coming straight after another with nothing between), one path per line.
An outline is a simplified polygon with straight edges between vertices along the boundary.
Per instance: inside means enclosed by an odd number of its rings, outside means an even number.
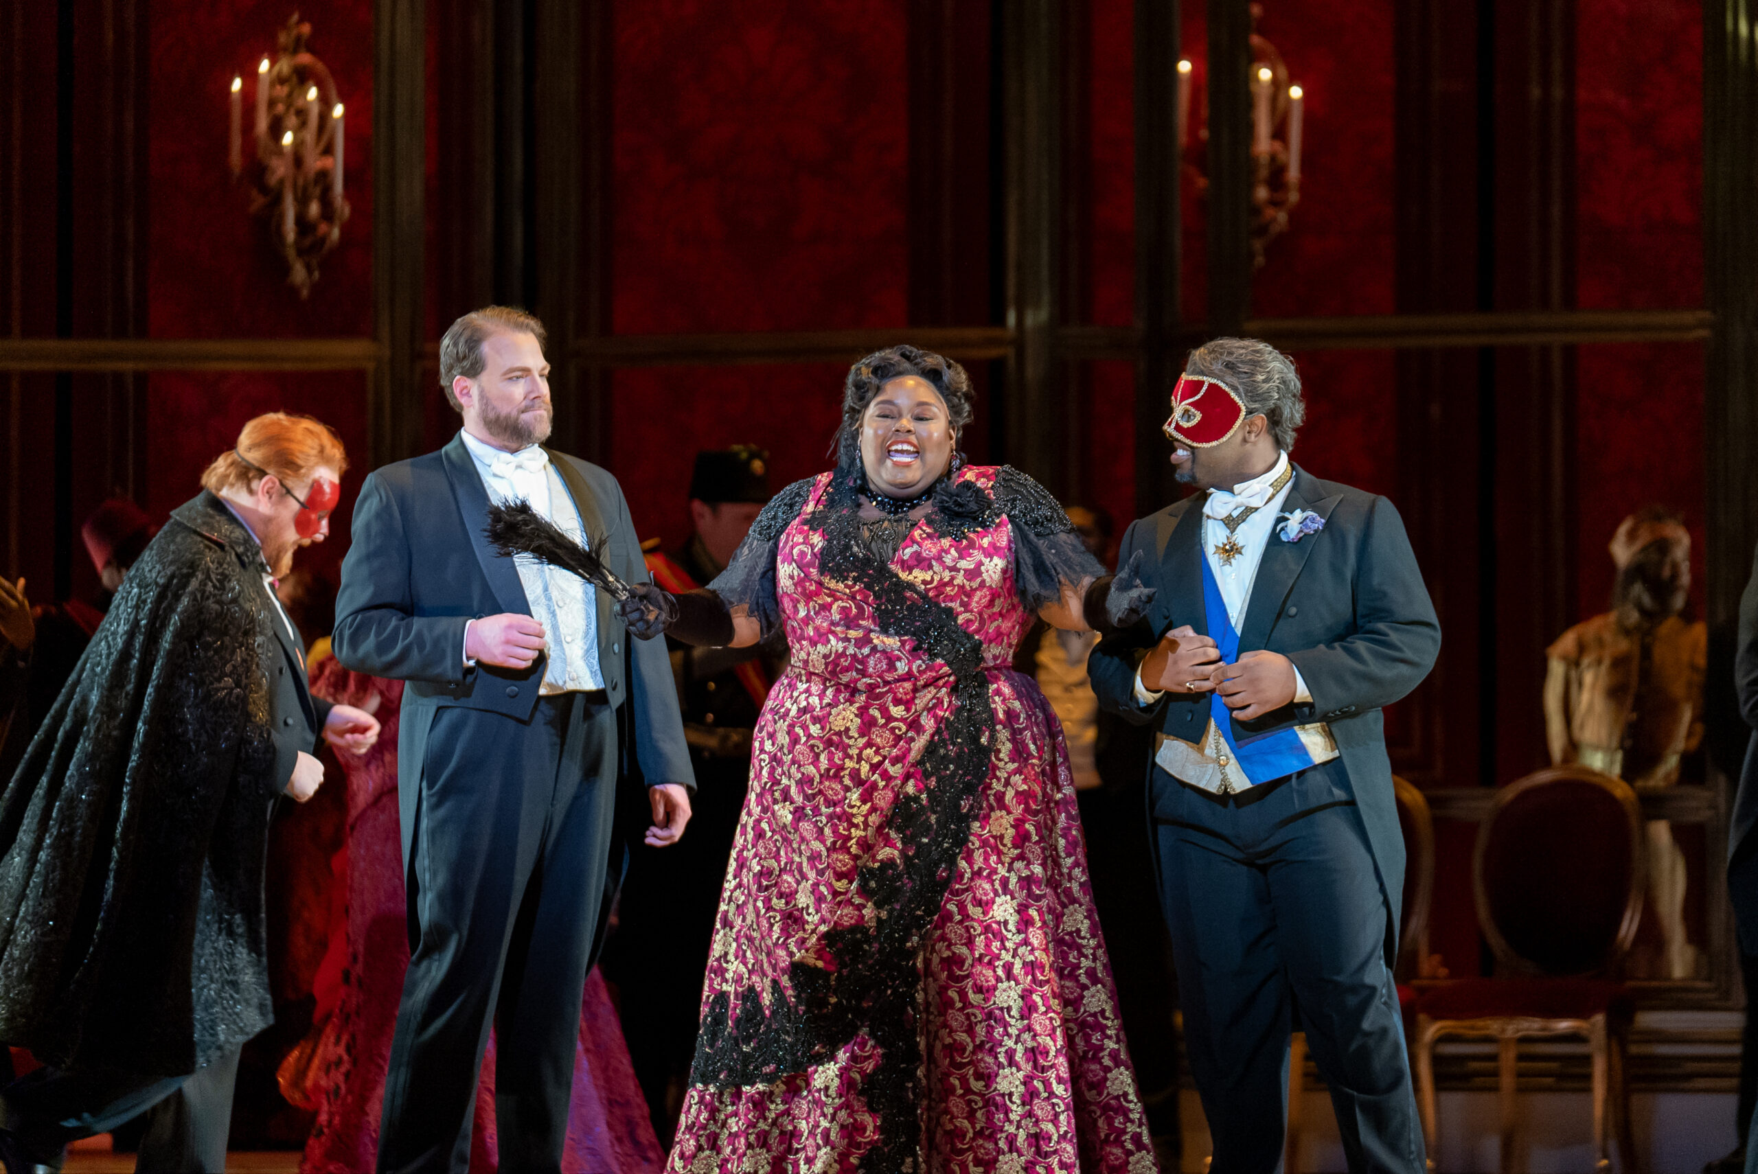
M0 794L0 1040L181 1076L272 1021L262 576L218 497L176 510Z

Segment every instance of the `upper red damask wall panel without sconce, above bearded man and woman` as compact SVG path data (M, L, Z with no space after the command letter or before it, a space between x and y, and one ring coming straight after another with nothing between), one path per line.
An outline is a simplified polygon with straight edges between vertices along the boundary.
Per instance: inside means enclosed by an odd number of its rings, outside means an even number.
M905 30L905 0L615 5L619 334L904 323Z

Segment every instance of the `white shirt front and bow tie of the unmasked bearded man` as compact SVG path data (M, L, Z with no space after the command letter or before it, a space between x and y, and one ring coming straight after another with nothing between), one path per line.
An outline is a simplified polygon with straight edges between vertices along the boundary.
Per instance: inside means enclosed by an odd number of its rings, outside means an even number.
M482 475L489 501L529 501L531 508L554 522L563 533L589 545L580 525L580 511L563 483L561 473L550 464L541 445L526 445L519 452L505 452L461 431L464 448ZM605 677L598 664L598 592L578 575L548 566L522 554L513 559L519 582L526 589L531 617L543 624L543 684L540 696L556 692L603 689ZM464 626L466 636L469 624Z

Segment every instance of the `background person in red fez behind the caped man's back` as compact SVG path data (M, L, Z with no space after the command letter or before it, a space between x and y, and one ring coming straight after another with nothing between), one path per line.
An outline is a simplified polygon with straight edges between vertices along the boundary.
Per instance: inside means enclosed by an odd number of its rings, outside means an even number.
M156 533L158 527L141 506L127 497L113 497L79 527L86 555L102 582L90 599L32 610L23 578L11 585L11 592L0 585L0 594L26 601L25 622L11 633L0 631L0 782L18 770L32 735L49 715L62 685L72 677L91 634L104 622L123 576ZM0 601L0 608L5 606ZM12 715L11 724L7 714Z

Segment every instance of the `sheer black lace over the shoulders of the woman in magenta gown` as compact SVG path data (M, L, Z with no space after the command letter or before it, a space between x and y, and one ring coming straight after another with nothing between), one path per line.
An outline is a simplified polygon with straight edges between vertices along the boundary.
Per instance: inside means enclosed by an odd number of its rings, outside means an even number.
M858 511L865 480L851 475L847 462L837 467L835 482L817 511ZM708 587L728 608L744 606L761 626L766 638L781 626L781 601L775 596L775 552L782 531L805 510L817 478L795 482L763 506L751 524L751 533L733 554L733 561ZM990 529L1000 518L1013 522L1013 582L1020 603L1028 612L1057 603L1064 583L1079 587L1106 573L1069 522L1067 511L1042 485L1013 466L1000 466L993 492L956 475L942 478L928 503L907 515L911 529L926 522L953 540ZM890 538L890 541L886 541ZM893 531L870 540L874 547L902 541L904 533ZM890 562L884 548L874 550L881 562Z

